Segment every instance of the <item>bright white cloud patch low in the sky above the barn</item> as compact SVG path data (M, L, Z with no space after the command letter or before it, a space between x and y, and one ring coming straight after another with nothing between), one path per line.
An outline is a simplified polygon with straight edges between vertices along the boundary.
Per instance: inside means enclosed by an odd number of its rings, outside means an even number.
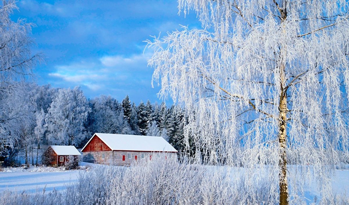
M142 84L145 73L149 73L150 86L151 71L147 68L149 54L134 54L131 56L106 55L95 62L81 61L67 65L55 66L55 71L49 76L67 82L69 86L86 86L91 91L112 89L113 87L129 87Z

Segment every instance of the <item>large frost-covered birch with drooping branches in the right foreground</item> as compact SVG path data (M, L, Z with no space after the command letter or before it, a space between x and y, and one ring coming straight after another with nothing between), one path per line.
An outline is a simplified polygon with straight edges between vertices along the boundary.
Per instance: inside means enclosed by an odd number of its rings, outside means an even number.
M293 164L297 176L315 176L328 203L328 176L349 148L348 1L179 0L178 8L194 10L202 29L148 41L148 63L162 96L185 107L187 141L207 162L268 168L280 204L299 203Z

